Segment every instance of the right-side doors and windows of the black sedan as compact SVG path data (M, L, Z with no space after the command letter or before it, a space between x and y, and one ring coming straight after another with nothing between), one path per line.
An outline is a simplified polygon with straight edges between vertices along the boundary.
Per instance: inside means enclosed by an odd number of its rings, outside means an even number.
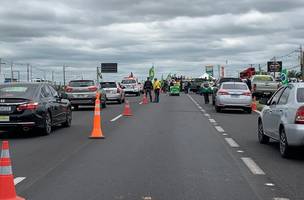
M58 123L64 122L66 120L66 103L59 98L58 92L51 86L48 85L48 88L51 91L54 109L56 110L56 118L58 119Z

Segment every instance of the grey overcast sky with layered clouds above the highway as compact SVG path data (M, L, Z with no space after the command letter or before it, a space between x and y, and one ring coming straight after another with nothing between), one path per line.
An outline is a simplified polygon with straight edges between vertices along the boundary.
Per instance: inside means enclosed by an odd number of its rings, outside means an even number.
M303 19L303 0L1 0L0 58L85 76L101 62L196 76L228 60L236 74L299 48Z

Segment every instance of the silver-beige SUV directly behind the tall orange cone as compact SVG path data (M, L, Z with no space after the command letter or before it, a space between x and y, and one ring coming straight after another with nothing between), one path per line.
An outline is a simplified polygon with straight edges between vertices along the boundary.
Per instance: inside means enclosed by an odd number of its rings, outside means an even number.
M100 93L101 107L106 107L106 92L94 80L72 80L65 89L74 109L80 105L95 105L96 92Z

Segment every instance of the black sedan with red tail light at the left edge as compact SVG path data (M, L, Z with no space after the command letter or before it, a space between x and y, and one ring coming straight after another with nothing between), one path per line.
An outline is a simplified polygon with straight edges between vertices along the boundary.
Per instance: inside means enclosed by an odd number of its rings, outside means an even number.
M72 111L65 94L48 83L0 84L0 131L33 128L48 135L55 125L70 127Z

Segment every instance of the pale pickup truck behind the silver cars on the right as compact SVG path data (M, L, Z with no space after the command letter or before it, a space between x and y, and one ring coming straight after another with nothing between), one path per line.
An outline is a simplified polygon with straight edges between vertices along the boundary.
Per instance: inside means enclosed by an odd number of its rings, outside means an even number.
M281 86L270 75L254 75L251 78L251 85L254 97L269 97Z

